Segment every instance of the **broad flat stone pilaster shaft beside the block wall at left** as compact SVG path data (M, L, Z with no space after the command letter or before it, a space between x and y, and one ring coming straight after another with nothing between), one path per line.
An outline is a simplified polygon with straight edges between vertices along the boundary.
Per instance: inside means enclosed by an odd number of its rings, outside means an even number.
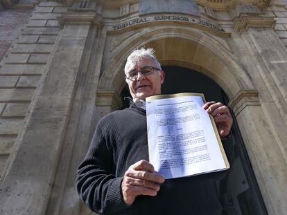
M62 28L0 187L0 214L45 214L90 21Z

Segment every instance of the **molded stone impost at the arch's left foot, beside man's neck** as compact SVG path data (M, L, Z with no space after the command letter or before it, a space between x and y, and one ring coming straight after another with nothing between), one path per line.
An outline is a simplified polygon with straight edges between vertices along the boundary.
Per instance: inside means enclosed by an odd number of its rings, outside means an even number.
M98 89L96 93L96 106L110 106L113 110L122 106L121 97L116 90Z

